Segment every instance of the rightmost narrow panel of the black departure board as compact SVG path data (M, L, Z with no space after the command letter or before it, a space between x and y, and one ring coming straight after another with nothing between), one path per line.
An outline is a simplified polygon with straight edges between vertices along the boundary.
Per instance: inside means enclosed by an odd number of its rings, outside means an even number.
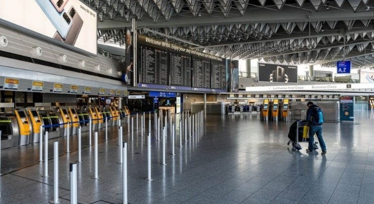
M212 60L212 89L226 88L226 65L223 61Z

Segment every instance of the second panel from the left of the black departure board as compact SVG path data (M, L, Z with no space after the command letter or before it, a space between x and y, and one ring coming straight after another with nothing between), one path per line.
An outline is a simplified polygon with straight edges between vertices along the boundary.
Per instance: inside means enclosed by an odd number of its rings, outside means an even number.
M191 55L169 51L170 86L191 87Z

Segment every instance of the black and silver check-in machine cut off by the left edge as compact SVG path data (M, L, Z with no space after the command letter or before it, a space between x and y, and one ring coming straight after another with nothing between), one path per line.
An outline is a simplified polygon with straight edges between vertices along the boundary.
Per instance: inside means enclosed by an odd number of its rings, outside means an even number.
M19 128L16 117L0 117L0 130L2 149L18 146Z

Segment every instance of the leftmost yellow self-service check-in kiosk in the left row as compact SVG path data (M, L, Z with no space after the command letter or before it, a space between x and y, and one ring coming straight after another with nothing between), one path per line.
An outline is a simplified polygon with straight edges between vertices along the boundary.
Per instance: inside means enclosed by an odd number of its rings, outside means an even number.
M19 129L18 145L27 145L30 142L30 122L24 110L14 110Z

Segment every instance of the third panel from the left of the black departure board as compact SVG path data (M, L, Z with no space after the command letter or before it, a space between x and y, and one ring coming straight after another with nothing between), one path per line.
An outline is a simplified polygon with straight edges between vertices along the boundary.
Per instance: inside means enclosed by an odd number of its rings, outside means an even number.
M192 58L193 78L192 86L211 88L211 61L203 58Z

